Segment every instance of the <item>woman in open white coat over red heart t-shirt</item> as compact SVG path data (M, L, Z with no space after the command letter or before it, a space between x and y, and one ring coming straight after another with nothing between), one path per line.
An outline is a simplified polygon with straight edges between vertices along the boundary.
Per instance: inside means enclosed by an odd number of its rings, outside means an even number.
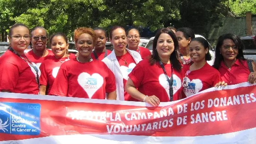
M115 74L117 100L133 101L134 99L124 91L124 86L128 80L128 74L141 61L141 55L126 48L127 37L123 27L112 27L109 38L114 50L102 61Z

